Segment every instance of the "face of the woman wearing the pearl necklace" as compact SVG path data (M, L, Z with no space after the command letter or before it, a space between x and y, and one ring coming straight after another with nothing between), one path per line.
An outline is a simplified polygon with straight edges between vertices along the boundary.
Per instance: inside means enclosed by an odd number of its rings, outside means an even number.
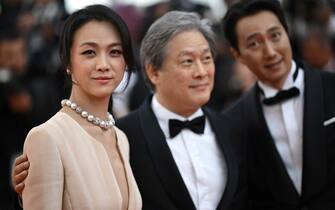
M69 70L76 94L110 97L123 78L125 66L121 38L111 23L90 21L75 32Z

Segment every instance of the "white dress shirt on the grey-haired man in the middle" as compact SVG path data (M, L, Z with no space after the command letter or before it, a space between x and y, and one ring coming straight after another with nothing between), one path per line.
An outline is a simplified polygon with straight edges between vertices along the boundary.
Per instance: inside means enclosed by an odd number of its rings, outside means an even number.
M163 107L155 96L151 106L196 209L216 209L225 189L227 167L208 119L203 134L189 129L183 129L174 138L169 134L169 119L192 120L203 115L203 111L198 109L185 118Z

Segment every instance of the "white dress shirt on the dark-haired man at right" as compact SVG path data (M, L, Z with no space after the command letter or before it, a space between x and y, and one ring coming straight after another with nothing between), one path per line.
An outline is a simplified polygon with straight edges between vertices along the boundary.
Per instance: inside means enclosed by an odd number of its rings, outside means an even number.
M292 179L298 193L301 193L302 181L302 124L303 124L303 102L304 102L304 71L298 69L298 76L293 80L296 63L292 61L289 75L283 85L283 90L293 86L300 91L298 97L276 105L262 105L265 120L270 133L274 139L276 148L284 162L287 172ZM277 89L258 81L258 85L264 91L261 100L266 97L273 97Z

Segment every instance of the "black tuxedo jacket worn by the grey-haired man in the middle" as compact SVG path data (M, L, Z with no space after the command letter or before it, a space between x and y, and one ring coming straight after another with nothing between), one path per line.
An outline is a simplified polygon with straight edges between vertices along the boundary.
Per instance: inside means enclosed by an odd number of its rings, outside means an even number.
M143 209L195 210L150 104L151 98L137 111L117 121L117 126L129 139L130 163L143 199ZM245 209L246 179L245 173L240 173L243 160L236 155L243 145L230 142L222 116L206 108L203 110L215 132L228 169L226 188L217 209Z

